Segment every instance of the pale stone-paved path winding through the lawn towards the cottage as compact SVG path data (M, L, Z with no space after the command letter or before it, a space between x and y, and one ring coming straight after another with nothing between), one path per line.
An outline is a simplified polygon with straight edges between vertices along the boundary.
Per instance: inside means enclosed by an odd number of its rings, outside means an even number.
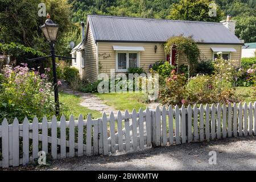
M118 110L114 109L114 107L104 104L104 101L102 101L100 98L98 98L92 93L73 91L68 87L68 84L65 81L62 81L62 85L59 87L59 90L64 93L75 94L76 96L80 96L82 98L82 102L80 103L80 105L87 107L88 109L96 110L96 111L99 111L100 113L105 112L107 115L109 115L111 111L113 111L115 115L118 112ZM156 109L158 105L159 103L153 102L148 104L148 108ZM124 111L121 111L121 112L123 113Z

